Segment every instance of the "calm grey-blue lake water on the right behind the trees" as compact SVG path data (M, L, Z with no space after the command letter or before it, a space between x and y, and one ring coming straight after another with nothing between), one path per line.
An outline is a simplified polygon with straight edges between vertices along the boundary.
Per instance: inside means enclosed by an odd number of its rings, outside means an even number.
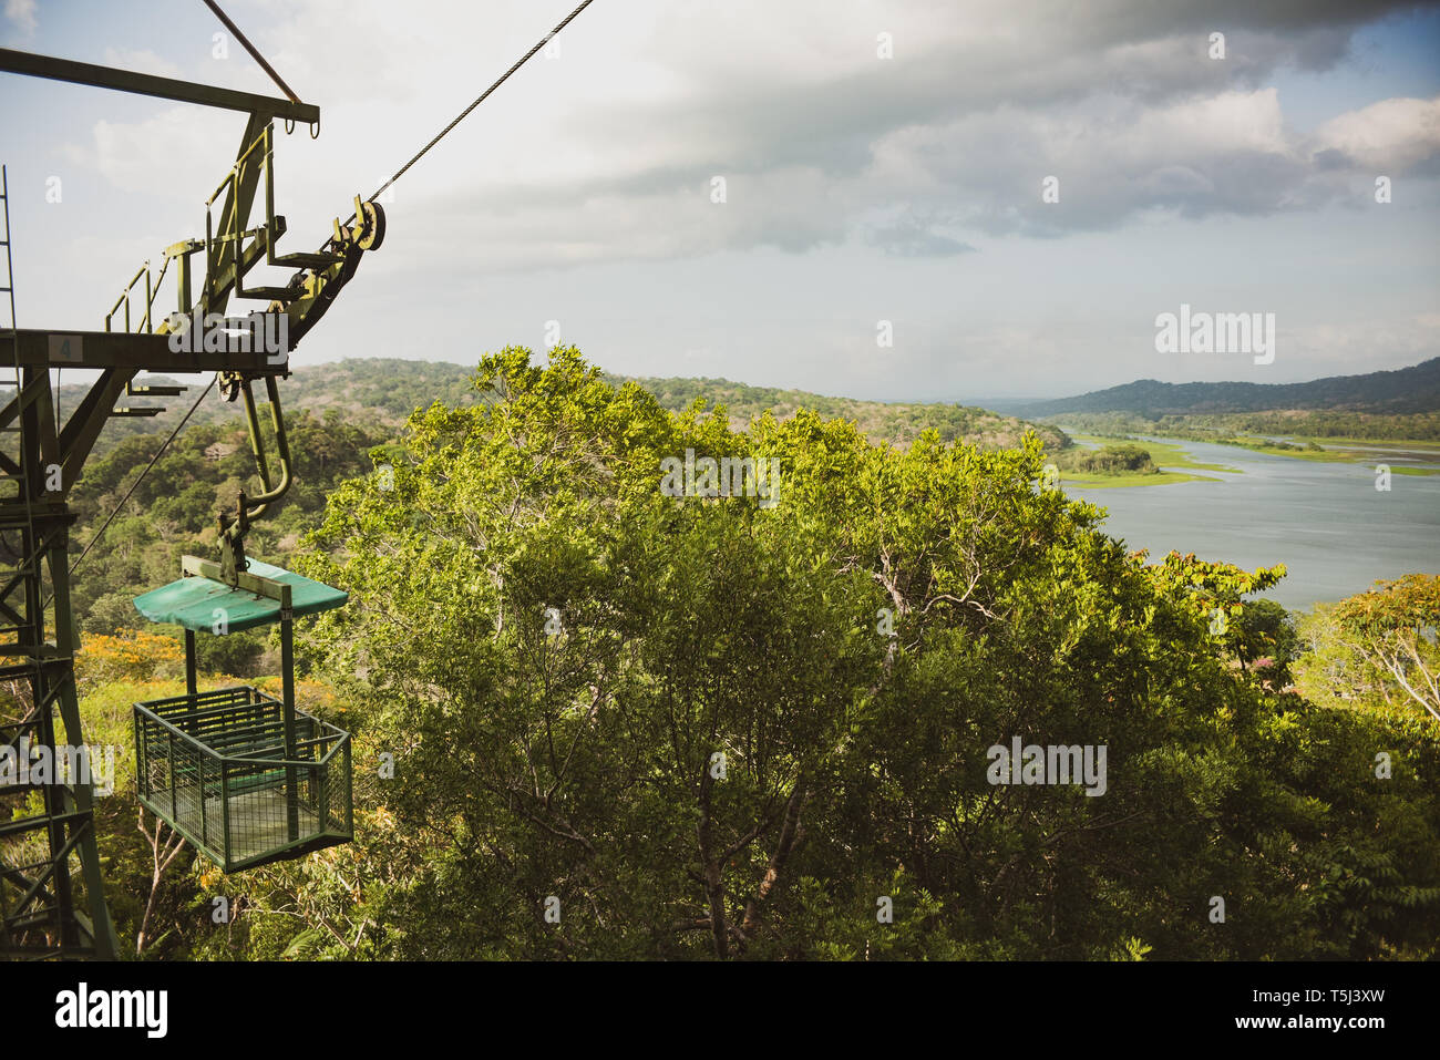
M1071 497L1106 508L1104 530L1130 549L1149 549L1152 560L1174 549L1251 570L1284 563L1289 576L1264 595L1305 611L1365 592L1381 578L1440 573L1440 475L1391 475L1390 491L1381 493L1374 465L1149 441L1178 445L1197 461L1241 472L1189 471L1218 482L1066 485ZM1377 462L1391 468L1436 467L1434 452L1380 448Z

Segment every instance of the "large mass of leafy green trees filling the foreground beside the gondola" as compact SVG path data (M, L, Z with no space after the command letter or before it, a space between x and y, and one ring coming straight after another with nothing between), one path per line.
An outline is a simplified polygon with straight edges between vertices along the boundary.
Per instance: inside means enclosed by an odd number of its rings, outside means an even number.
M1146 566L1037 488L1032 436L736 432L528 361L487 357L393 484L331 495L304 566L351 603L310 650L357 730L357 843L226 881L226 955L1434 953L1436 733L1228 665L1283 654L1264 608L1207 629L1283 567ZM687 448L778 458L778 504L662 495ZM992 785L1012 736L1103 745L1106 794Z

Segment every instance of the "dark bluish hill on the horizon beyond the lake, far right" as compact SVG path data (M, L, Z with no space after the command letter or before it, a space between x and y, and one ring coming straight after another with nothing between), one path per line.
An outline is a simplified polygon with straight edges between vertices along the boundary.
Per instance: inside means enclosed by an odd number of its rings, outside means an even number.
M1440 410L1440 357L1395 372L1329 376L1309 383L1161 383L1140 379L1076 398L994 405L1030 419L1077 412L1130 412L1148 418L1282 409L1390 415L1434 412Z

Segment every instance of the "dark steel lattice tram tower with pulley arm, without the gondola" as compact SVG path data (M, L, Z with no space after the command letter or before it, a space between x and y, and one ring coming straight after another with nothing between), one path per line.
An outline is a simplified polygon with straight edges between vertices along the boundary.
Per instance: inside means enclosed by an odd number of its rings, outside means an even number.
M242 43L249 46L243 39ZM7 269L0 291L10 305L9 327L0 331L0 681L9 681L14 690L20 716L16 720L0 719L4 722L0 724L3 769L6 760L29 765L36 755L48 753L53 760L56 750L60 758L73 758L73 749L85 746L75 693L73 658L79 638L71 611L69 578L69 533L75 517L68 497L111 416L156 415L161 410L117 408L117 400L125 395L173 398L183 390L137 387L135 376L141 372L222 373L226 396L245 395L252 429L255 409L251 385L265 380L272 412L276 418L279 415L274 380L289 374L288 356L276 359L264 349L236 350L235 344L228 350L206 351L206 343L200 341L176 343L181 347L176 351L171 349L168 314L157 320L154 300L158 279L174 262L176 311L194 314L192 321L203 321L210 314L223 315L232 292L239 298L261 300L268 313L285 315L289 346L294 347L354 275L360 255L379 245L384 216L374 203L356 199L353 226L336 220L333 235L321 251L276 253L285 219L274 212L272 122L282 118L315 128L320 122L320 108L300 102L288 88L289 98L279 99L10 49L0 49L0 72L249 115L236 161L206 203L204 239L186 239L170 246L164 252L164 268L156 278L148 264L141 268L107 317L105 331L17 328L16 284ZM265 220L248 228L262 176ZM7 183L0 184L0 194L4 196L9 266ZM212 209L219 209L217 217L212 217ZM199 292L192 297L190 258L194 253L203 253L204 274ZM298 271L284 287L246 288L245 274L261 264ZM137 314L135 331L130 331L131 297L141 297L141 279L143 313ZM111 331L121 305L125 331ZM52 369L99 373L63 422L56 418ZM243 511L240 518L243 521ZM4 785L0 779L0 958L112 958L117 942L105 906L91 785L79 775L30 775L22 781Z

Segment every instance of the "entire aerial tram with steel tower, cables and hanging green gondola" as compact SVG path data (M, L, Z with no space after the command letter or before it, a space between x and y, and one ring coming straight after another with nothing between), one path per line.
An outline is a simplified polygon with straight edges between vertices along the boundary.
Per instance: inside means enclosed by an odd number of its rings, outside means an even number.
M226 400L245 400L261 491L253 497L242 493L233 514L220 516L219 560L186 556L177 580L135 598L141 615L184 631L186 693L135 703L134 732L140 802L225 871L240 871L302 857L354 837L350 735L297 709L294 675L295 619L343 606L347 596L341 589L245 554L251 523L279 503L292 478L276 380L289 374L289 350L330 310L363 255L384 241L384 210L377 202L382 194L593 0L580 0L374 194L356 196L351 216L344 222L334 219L320 249L289 253L278 249L287 223L275 212L275 121L284 120L287 132L300 122L308 124L315 137L320 108L301 102L216 0L204 3L285 98L0 48L0 73L249 115L235 164L204 205L204 238L167 248L158 272L145 262L111 307L104 331L20 328L14 318L13 266L0 287L10 304L10 327L0 330L0 439L16 436L13 451L0 445L0 680L29 687L24 714L0 723L0 752L36 746L53 752L60 735L72 747L85 746L73 673L79 634L71 606L71 573L79 560L72 565L69 559L73 514L68 497L95 439L111 416L163 412L158 406L117 405L118 400L174 398L186 389L137 385L141 372L215 373L212 386L219 383ZM265 216L252 226L251 210L262 179ZM6 219L0 242L9 266L10 193L3 170L0 202ZM192 262L196 255L203 255L203 271ZM161 318L156 295L171 264L176 310ZM248 274L261 264L294 274L284 285L248 285ZM193 291L197 272L199 289ZM264 313L248 318L252 323L262 318L264 324L249 340L236 334L248 327L246 318L225 317L232 295L266 305ZM132 302L141 298L132 314ZM219 333L225 337L217 337ZM278 351L269 349L269 341L261 341L262 336L274 334L285 337ZM68 367L92 369L98 379L62 423L50 373ZM259 426L256 385L264 385L269 403L275 467ZM190 413L206 393L209 387ZM202 691L196 637L225 637L261 626L279 626L279 699L253 686ZM39 811L27 801L36 789ZM14 795L20 796L19 807L6 802ZM4 857L6 844L24 845L36 837L42 837L45 850L37 860L17 863ZM0 788L0 958L115 955L88 776Z

